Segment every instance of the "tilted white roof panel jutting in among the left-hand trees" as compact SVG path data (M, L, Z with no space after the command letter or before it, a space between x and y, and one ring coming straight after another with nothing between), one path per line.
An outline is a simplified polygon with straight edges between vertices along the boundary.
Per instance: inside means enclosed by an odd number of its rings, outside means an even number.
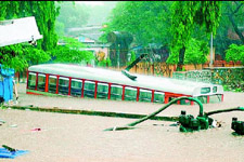
M0 22L0 46L41 38L34 16Z

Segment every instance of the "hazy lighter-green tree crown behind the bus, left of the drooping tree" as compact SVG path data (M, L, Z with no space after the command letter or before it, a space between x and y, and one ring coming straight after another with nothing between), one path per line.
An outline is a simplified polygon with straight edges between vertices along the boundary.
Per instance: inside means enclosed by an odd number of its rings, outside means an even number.
M106 35L111 31L127 31L134 36L137 44L167 44L171 2L166 1L125 1L118 2L106 23Z

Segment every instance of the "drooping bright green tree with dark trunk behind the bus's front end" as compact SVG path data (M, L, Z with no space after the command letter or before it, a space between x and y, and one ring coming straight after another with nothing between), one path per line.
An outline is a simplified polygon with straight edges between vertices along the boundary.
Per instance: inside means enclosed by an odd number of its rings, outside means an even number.
M196 25L206 32L216 33L220 19L221 2L218 1L176 1L172 4L170 55L178 56L178 69L182 69L184 53Z

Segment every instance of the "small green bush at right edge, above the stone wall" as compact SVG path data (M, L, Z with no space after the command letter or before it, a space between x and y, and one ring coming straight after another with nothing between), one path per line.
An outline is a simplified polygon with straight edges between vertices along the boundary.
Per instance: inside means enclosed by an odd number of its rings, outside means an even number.
M244 65L244 45L231 44L227 50L226 59L227 62L233 60L234 63L240 60Z

